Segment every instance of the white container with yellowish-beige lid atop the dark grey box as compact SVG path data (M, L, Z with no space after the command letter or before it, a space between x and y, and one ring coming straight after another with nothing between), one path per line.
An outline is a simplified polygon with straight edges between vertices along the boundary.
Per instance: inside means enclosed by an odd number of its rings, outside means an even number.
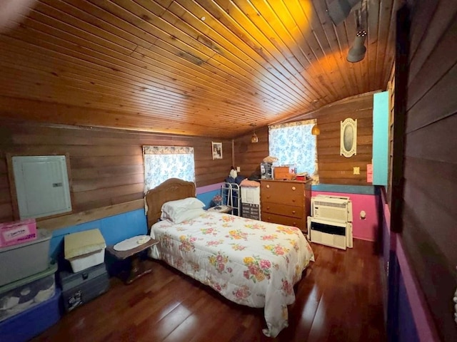
M99 229L73 233L64 237L65 259L70 261L71 269L79 272L105 261L105 239Z

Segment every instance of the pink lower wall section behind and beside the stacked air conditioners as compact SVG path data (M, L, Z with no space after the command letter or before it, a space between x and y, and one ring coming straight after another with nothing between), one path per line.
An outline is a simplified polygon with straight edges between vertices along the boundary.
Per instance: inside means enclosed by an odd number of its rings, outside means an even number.
M346 196L352 202L352 235L354 239L375 241L378 231L378 211L376 195L346 194L343 192L311 191L311 196L331 195ZM366 212L366 218L360 218L361 211Z

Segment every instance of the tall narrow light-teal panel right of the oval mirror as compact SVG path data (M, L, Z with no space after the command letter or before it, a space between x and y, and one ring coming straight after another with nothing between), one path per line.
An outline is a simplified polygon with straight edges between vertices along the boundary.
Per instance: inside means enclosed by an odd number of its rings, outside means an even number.
M388 91L373 96L373 185L388 181Z

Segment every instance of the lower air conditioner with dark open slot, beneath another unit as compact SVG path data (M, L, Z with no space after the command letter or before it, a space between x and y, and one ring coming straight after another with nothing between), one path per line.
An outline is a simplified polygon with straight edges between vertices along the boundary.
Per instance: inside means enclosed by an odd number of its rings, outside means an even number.
M339 249L352 248L352 223L316 219L308 216L308 239Z

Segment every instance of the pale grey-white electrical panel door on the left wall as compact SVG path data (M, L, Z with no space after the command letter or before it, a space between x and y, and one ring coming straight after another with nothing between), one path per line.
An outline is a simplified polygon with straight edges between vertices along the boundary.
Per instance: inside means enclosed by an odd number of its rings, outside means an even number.
M21 219L71 212L64 155L12 157Z

